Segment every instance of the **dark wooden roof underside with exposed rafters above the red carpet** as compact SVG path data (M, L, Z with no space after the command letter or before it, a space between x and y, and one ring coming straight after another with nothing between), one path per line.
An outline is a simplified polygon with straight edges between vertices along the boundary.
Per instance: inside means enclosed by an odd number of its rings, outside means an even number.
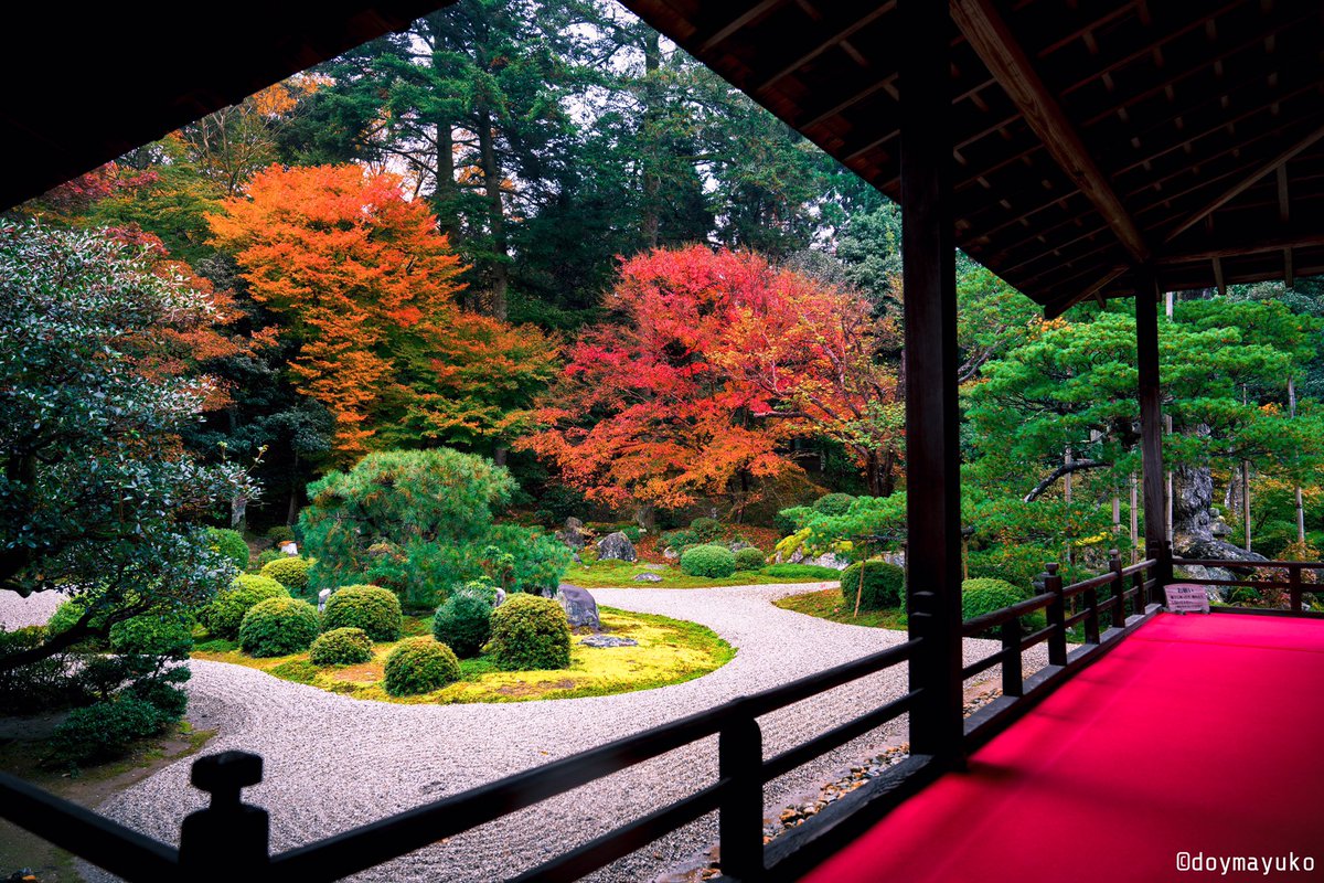
M895 1L624 0L898 199ZM959 245L1059 314L1324 273L1319 0L952 0Z

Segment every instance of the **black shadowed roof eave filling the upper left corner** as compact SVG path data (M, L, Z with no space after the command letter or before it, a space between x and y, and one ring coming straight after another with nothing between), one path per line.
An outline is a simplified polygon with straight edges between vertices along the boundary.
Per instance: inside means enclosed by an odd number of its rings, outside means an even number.
M11 4L0 209L450 3Z

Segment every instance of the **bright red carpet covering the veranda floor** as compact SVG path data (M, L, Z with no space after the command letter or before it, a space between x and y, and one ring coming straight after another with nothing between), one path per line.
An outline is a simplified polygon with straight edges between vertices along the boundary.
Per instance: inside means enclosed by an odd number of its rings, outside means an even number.
M1158 616L805 882L1190 879L1324 880L1324 621Z

